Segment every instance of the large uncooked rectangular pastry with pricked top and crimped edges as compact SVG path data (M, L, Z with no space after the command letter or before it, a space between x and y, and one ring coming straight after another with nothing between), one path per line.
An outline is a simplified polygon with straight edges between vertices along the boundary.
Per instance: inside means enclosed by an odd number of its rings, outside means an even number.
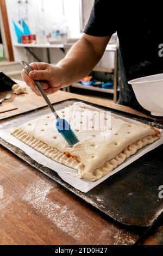
M98 111L87 105L76 104L58 114L70 122L79 138L73 147L58 133L52 114L29 121L11 134L52 160L78 170L79 178L87 180L102 178L160 136L152 126L128 123L105 113L104 124L95 130Z

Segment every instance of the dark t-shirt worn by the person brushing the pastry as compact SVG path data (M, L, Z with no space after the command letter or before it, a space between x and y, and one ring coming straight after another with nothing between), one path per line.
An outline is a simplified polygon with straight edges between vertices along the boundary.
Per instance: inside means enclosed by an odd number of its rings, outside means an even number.
M159 5L148 2L146 8L128 4L120 6L116 1L95 0L84 33L108 36L117 32L120 41L120 98L118 103L141 109L129 80L163 72L163 57L159 45L163 44L163 15Z

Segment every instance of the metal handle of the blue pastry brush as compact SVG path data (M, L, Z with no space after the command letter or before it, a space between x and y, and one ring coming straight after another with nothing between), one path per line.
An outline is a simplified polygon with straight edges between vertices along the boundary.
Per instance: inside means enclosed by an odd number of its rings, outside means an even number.
M31 71L33 71L32 68L29 66L29 64L27 62L24 62L24 61L20 60L20 63L23 66L24 71L26 71L27 75L29 75L29 73ZM52 106L51 101L49 101L47 95L45 94L45 92L44 92L44 90L43 90L43 88L41 86L41 83L38 82L38 81L35 81L35 86L39 90L39 92L41 93L43 99L45 99L45 101L46 101L47 105L49 106L49 108L51 109L52 113L55 115L55 117L57 119L59 119L59 115L57 114L57 112L55 111L54 107Z

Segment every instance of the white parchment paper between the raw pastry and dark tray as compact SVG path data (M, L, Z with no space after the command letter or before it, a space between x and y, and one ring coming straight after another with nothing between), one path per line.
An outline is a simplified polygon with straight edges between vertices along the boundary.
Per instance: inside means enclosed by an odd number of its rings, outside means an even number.
M85 105L85 104L82 103L82 105ZM90 108L90 105L89 105L89 108ZM92 108L92 110L95 110L95 109L97 110L98 109L98 108L95 108L95 107L91 107L91 108ZM130 123L140 123L140 122L135 121L133 119L121 117L120 115L116 115L116 114L112 114L112 115L114 115L117 118L121 118L123 120L129 121ZM23 119L24 118L19 118L18 121L15 121L14 126L15 127L20 126L22 124ZM33 118L30 115L30 119L28 119L26 121L29 121L29 120L32 120L32 119ZM90 191L93 187L97 186L98 184L100 184L104 180L108 179L111 175L114 175L115 173L119 172L124 167L128 166L130 163L139 159L139 157L141 157L141 156L145 155L146 153L148 153L149 151L159 147L159 145L161 145L163 143L163 132L161 130L161 137L158 139L158 141L154 142L153 144L149 144L146 147L138 150L136 154L134 154L133 156L130 156L128 159L126 159L126 161L124 163L122 163L120 166L115 168L108 175L105 175L102 179L99 179L97 181L88 181L88 180L84 180L84 179L79 179L78 177L72 176L70 174L66 174L67 172L72 173L72 174L77 174L77 171L72 169L72 168L66 167L63 164L57 163L57 162L53 161L52 159L49 159L45 155L42 155L41 153L39 153L35 149L29 147L25 143L21 142L19 139L12 136L10 134L10 130L11 130L11 128L8 128L8 127L4 127L0 130L0 137L2 139L4 139L4 141L14 145L17 148L20 148L28 156L30 156L33 160L35 160L37 163L40 163L43 166L46 166L46 167L54 170L55 172L58 173L58 175L61 177L62 180L64 180L65 182L67 182L68 184L73 186L74 188L77 188L77 190L80 190L80 191L85 192L85 193Z

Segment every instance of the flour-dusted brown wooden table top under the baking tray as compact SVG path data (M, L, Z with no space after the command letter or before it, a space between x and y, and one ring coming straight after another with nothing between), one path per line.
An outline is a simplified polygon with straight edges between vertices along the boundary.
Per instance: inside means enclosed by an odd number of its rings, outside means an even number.
M106 100L61 91L51 98L53 102L77 98L137 113ZM15 101L20 111L22 101L16 97ZM41 97L36 102L43 104ZM24 106L27 111L29 104ZM133 245L144 231L116 223L3 147L0 161L0 245Z

